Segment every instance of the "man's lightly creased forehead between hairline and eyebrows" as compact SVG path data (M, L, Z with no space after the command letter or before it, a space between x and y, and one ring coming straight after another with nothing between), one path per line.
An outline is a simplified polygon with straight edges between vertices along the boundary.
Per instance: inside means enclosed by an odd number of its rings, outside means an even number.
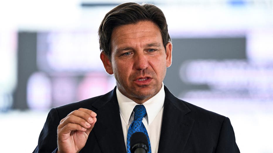
M163 44L159 27L151 21L140 21L113 29L111 36L112 49L123 45L141 45L145 43Z

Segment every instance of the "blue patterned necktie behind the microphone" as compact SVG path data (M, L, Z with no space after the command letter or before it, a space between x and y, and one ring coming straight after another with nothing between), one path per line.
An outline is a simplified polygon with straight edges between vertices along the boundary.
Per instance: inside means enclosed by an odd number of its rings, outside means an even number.
M144 105L136 105L134 107L134 121L129 126L128 133L127 133L127 153L131 153L131 151L130 151L130 137L135 132L142 132L147 136L148 144L149 144L149 152L148 153L151 153L150 139L149 139L147 130L146 130L144 124L142 123L142 119L146 115L147 115L147 113L146 113L146 109L145 109Z

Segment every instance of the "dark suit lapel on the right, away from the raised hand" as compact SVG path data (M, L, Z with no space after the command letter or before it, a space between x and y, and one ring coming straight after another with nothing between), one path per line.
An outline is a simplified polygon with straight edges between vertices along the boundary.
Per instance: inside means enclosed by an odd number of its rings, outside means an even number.
M182 152L187 144L194 119L187 117L190 109L176 98L168 88L165 101L158 153Z

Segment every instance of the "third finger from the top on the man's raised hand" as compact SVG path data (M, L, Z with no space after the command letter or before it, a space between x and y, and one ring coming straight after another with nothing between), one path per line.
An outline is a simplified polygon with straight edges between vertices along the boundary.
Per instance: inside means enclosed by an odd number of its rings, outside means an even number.
M84 128L90 128L90 126L91 126L91 124L88 123L85 119L83 119L81 117L74 116L74 115L69 115L59 125L59 128L63 128L64 126L66 126L66 124L69 124L69 123L79 124Z

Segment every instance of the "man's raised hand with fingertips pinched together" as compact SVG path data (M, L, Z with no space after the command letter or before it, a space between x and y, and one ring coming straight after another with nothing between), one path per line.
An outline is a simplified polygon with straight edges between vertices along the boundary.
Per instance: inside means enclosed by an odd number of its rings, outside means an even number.
M89 133L97 121L97 114L80 108L69 113L58 126L58 152L76 153L86 144Z

